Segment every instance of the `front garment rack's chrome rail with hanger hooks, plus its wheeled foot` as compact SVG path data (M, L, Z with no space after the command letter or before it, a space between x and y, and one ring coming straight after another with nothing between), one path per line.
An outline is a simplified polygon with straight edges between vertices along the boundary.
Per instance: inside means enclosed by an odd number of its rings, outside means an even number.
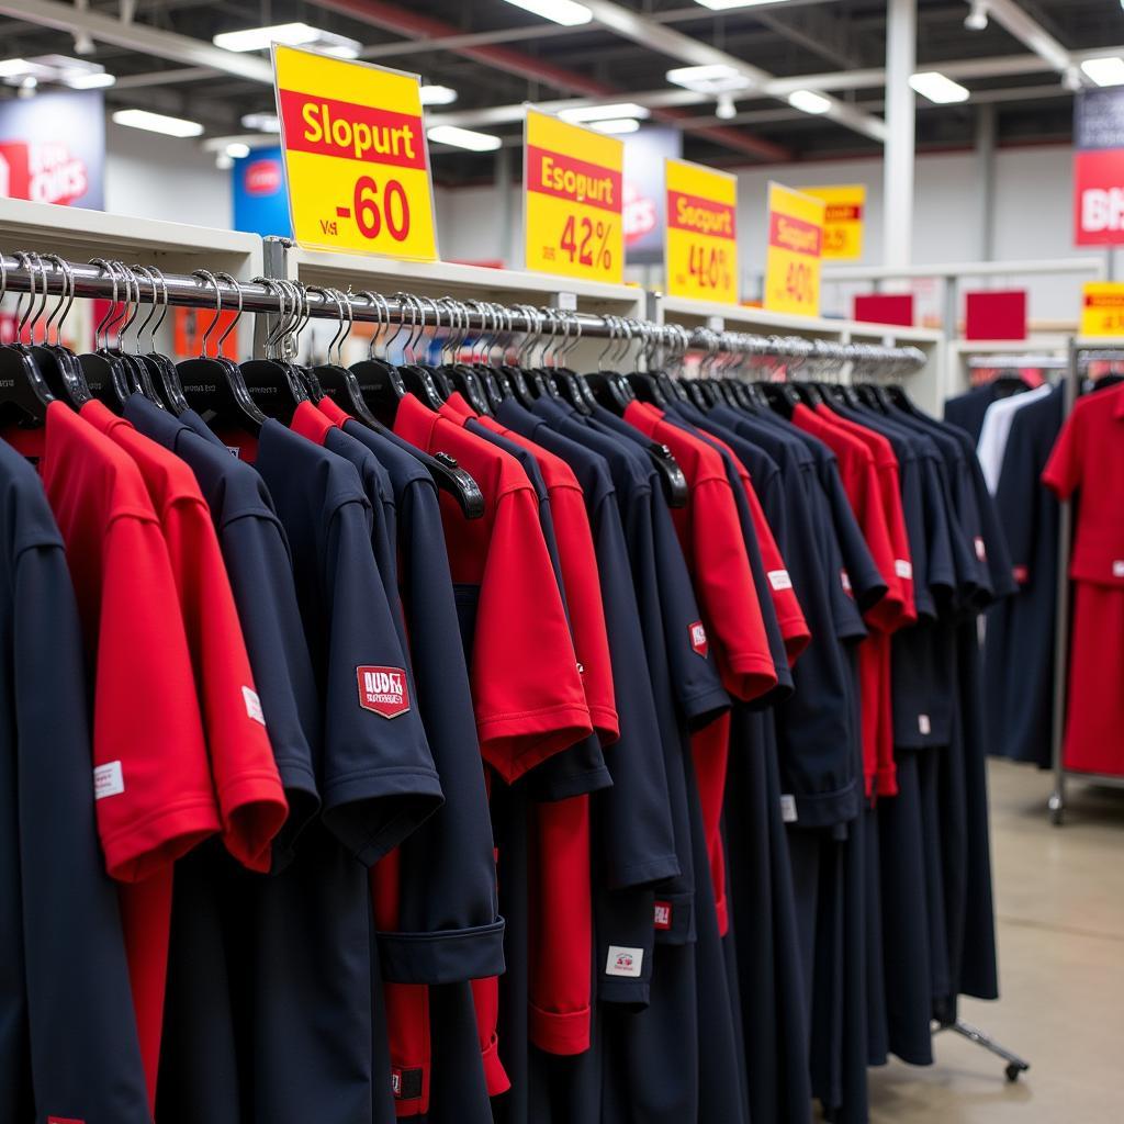
M280 345L287 352L292 346L294 334L299 335L307 320L315 318L334 320L341 328L345 323L363 321L383 328L408 326L411 330L433 328L435 333L445 329L455 341L452 346L457 350L466 341L470 346L479 346L481 338L489 341L487 346L491 350L501 337L506 347L516 336L522 336L519 350L542 346L544 352L553 351L558 357L559 348L564 353L582 338L598 338L608 341L602 360L610 353L620 360L635 344L638 345L636 362L641 365L651 361L659 352L677 362L682 362L689 353L699 355L700 362L695 377L704 379L710 373L719 355L736 356L731 360L735 371L741 370L745 363L752 369L756 360L758 373L767 378L799 380L805 372L815 377L818 371L839 382L850 381L855 373L865 378L876 372L879 377L900 379L922 371L930 359L917 346L840 342L799 335L767 336L752 332L716 330L701 325L685 327L609 312L602 315L573 309L536 308L532 305L506 306L493 301L463 301L452 297L435 299L406 292L382 296L370 291L353 293L348 290L345 293L338 288L306 285L293 280L255 278L247 282L237 281L229 273L216 274L206 269L196 273L165 273L151 265L129 266L105 259L72 262L54 254L48 256L27 252L0 253L0 297L6 293L31 294L20 330L30 317L36 300L40 303L31 321L33 328L38 324L48 296L63 298L47 319L48 329L60 311L65 318L70 302L75 298L110 300L114 307L101 327L106 328L108 323L106 338L116 333L118 345L124 330L135 319L135 312L129 315L130 309L139 305L155 305L164 308L206 309L215 314L237 309L239 316L243 312L254 312L277 318L277 324L270 325L272 330L259 333L259 338L266 339L272 347ZM62 324L62 319L58 324ZM142 329L146 325L147 321ZM227 328L227 333L233 327ZM783 327L794 332L799 329L797 324L785 324ZM878 332L881 334L881 328ZM210 330L207 336L209 334ZM471 337L477 338L472 341ZM335 342L334 338L333 344ZM416 342L413 335L411 342ZM444 346L451 346L447 339L444 341ZM285 357L290 355L287 354ZM1114 357L1124 359L1124 352ZM681 377L692 375L685 368ZM1001 1058L1007 1063L1008 1080L1015 1080L1030 1068L1028 1062L960 1019L948 1024L934 1023L933 1033L941 1031L953 1031Z

